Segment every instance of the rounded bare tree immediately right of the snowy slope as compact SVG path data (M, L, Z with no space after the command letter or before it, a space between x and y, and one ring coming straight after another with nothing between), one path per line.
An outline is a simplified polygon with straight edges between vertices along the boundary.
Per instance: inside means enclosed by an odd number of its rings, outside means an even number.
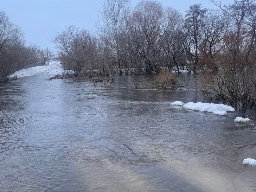
M85 76L96 73L97 39L86 29L69 25L53 39L63 67Z

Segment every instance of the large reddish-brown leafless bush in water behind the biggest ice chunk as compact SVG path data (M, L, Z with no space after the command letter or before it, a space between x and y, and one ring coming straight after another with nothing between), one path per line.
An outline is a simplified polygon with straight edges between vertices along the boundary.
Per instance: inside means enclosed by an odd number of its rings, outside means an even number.
M246 58L242 54L237 59L229 54L215 57L216 60L205 62L206 70L197 75L201 84L200 92L208 99L221 99L242 107L255 106L254 58Z

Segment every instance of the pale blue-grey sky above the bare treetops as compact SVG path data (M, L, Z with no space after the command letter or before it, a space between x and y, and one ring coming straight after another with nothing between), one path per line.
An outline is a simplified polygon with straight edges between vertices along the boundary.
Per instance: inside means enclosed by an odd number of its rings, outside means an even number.
M0 9L5 11L11 22L18 25L27 42L37 43L42 48L54 50L49 39L65 25L78 24L88 30L95 30L99 9L104 0L1 0ZM157 0L164 7L172 6L184 13L191 4L201 3L211 8L208 0ZM135 6L140 0L131 0ZM222 0L232 3L233 0Z

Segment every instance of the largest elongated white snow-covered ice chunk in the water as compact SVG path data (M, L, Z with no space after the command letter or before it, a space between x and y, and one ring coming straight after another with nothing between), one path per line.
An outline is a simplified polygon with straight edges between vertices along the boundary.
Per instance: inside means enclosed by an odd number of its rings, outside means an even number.
M226 115L224 112L234 112L235 109L231 106L223 105L223 104L215 104L215 103L193 103L189 102L184 105L185 108L200 112L209 112L215 115Z

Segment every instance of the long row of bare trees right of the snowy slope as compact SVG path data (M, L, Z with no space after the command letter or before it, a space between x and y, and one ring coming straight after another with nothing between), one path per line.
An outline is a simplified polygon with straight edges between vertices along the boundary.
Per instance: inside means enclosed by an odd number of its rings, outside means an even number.
M214 10L194 4L182 15L157 1L131 9L129 0L105 0L96 33L69 25L53 42L64 67L82 76L152 74L162 67L179 73L179 66L216 72L224 60L254 64L255 1L211 2Z

